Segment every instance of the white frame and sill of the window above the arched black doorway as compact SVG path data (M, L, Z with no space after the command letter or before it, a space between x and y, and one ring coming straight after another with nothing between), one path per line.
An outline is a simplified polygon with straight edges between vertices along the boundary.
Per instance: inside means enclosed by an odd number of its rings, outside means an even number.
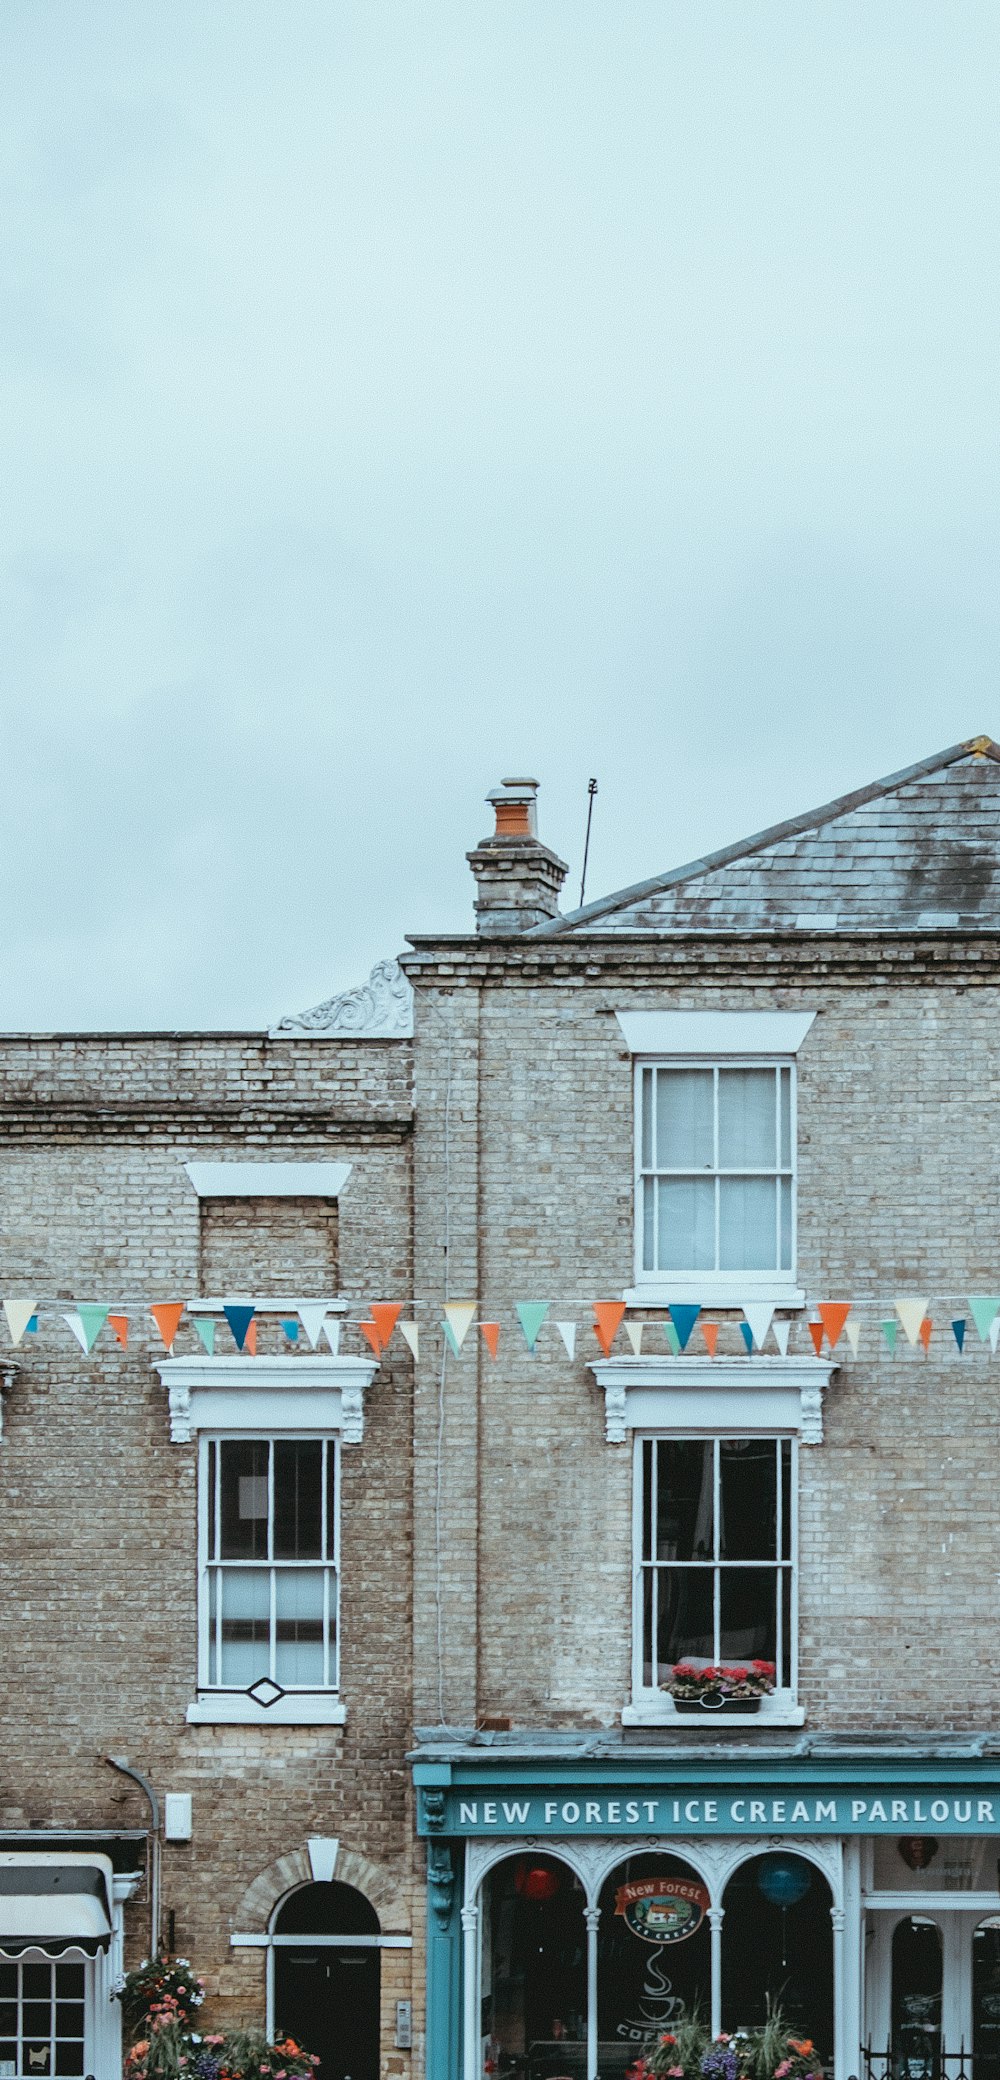
M247 1444L260 1441L268 1444L268 1520L274 1516L274 1444L326 1444L326 1452L335 1454L335 1525L333 1525L333 1558L326 1560L214 1560L208 1552L208 1466L210 1466L210 1446L222 1444ZM218 1483L220 1483L220 1452L216 1450L216 1527L218 1516ZM324 1512L326 1512L326 1487L324 1487ZM210 1683L210 1579L214 1570L225 1570L227 1566L249 1566L260 1572L270 1572L270 1681L274 1676L274 1575L277 1570L289 1568L316 1568L324 1575L324 1660L331 1681L306 1689L304 1685L281 1685L285 1695L274 1704L264 1706L249 1697L245 1689L233 1689L222 1683ZM218 1608L218 1606L216 1606ZM218 1639L216 1639L218 1656ZM260 1679L258 1679L260 1681ZM279 1724L279 1726L312 1726L312 1724L343 1724L345 1708L341 1704L341 1439L337 1431L249 1431L249 1429L212 1429L200 1431L198 1437L198 1704L187 1708L187 1718L193 1722L216 1722L216 1724Z

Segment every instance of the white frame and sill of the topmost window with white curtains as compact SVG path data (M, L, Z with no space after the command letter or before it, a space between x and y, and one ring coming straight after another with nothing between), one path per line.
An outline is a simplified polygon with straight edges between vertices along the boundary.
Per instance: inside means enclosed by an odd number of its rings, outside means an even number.
M717 1121L717 1071L719 1069L786 1069L788 1071L788 1125L790 1125L790 1186L792 1186L792 1263L780 1271L647 1271L642 1265L642 1075L647 1069L711 1069L715 1071L713 1107ZM778 1090L778 1077L775 1077ZM632 1065L632 1219L634 1219L634 1285L624 1294L632 1306L669 1304L672 1300L701 1302L711 1306L742 1306L746 1300L771 1300L775 1306L802 1306L805 1292L796 1285L798 1263L798 1094L794 1055L636 1055ZM661 1175L661 1173L657 1173ZM688 1171L684 1175L690 1175ZM705 1171L707 1177L723 1175L719 1169ZM784 1169L755 1171L755 1175L786 1175ZM715 1194L717 1202L717 1194ZM715 1238L717 1240L717 1238Z

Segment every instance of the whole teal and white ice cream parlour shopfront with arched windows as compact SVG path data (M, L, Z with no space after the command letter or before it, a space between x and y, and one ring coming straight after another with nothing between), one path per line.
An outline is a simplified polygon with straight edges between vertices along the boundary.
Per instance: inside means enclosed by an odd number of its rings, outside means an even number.
M836 2080L1000 2080L1000 1772L422 1751L428 2074L615 2080L769 2003Z

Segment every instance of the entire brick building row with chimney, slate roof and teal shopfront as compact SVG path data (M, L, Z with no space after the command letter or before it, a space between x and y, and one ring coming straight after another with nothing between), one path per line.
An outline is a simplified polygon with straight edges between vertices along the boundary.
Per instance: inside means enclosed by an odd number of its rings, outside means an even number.
M407 980L0 1042L0 2080L154 1922L322 2080L998 2080L1000 749L570 915L491 801Z

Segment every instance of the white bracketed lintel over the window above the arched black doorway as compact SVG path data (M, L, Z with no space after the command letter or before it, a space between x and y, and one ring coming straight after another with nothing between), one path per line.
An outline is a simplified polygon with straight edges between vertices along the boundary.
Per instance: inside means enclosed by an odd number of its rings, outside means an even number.
M156 1371L170 1402L173 1444L191 1444L198 1431L249 1431L256 1437L289 1431L337 1431L341 1444L362 1444L364 1392L378 1367L374 1358L160 1358Z

